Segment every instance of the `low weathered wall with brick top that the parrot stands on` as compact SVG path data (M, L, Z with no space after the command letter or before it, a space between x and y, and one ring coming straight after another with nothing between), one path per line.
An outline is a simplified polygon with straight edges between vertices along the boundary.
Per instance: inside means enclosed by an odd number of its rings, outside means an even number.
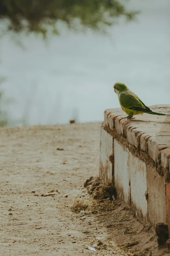
M170 106L152 110L170 112ZM153 227L168 224L170 233L170 117L144 114L127 120L125 116L121 109L105 111L100 177L114 176L117 198Z

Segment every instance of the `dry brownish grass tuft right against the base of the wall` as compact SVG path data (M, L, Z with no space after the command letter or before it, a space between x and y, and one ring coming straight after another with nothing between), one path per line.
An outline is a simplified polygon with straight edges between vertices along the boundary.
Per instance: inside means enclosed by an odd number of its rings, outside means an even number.
M93 198L99 201L104 199L113 199L116 196L116 189L113 180L108 179L103 185L97 186L93 191Z

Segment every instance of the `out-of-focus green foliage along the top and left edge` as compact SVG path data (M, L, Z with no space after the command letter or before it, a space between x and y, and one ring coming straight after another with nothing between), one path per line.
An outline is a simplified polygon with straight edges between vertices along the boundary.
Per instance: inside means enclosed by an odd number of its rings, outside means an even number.
M45 38L51 29L53 34L59 34L58 21L78 31L91 28L105 32L105 28L112 26L120 15L132 20L136 13L126 11L123 4L116 0L0 0L0 23L3 23L3 31L0 32L3 32L2 35L9 31L35 32ZM3 80L0 79L0 83ZM1 91L1 127L10 125L7 112L3 111L5 105Z

